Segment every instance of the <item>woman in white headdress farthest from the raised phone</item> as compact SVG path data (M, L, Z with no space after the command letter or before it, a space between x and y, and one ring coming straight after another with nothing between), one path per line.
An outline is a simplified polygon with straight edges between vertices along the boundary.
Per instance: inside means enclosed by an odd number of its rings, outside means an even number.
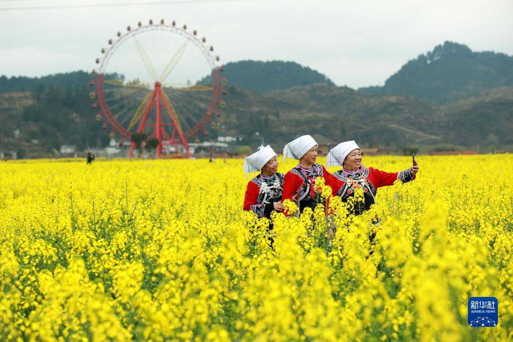
M281 199L283 174L278 172L278 159L273 149L267 145L244 159L246 178L249 172L260 173L252 178L244 196L244 210L252 211L259 217L269 217L273 210L284 209Z

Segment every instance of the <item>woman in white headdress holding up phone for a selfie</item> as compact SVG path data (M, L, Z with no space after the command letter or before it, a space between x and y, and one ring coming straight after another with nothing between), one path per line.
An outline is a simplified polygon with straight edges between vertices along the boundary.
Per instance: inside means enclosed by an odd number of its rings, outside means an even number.
M361 169L361 165L362 153L354 140L337 145L326 156L326 167L342 166L341 170L333 173L333 176L337 179L334 190L344 202L354 196L356 189L363 189L365 202L356 203L354 206L354 213L357 215L369 210L370 206L376 202L378 188L393 185L398 179L403 184L411 182L419 171L415 159L412 167L400 172L384 172L371 167Z

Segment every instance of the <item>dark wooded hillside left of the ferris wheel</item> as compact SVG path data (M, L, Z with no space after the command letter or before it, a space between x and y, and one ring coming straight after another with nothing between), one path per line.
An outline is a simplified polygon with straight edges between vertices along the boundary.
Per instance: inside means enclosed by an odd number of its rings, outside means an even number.
M91 109L89 86L40 86L34 92L0 94L0 150L47 154L61 145L106 146Z

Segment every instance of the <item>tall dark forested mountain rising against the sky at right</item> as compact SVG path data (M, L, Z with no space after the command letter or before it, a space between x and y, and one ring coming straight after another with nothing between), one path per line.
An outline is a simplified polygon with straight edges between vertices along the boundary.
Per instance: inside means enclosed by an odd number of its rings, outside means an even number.
M383 87L365 87L359 91L411 96L440 105L503 86L513 86L512 56L472 52L466 45L445 42L406 63Z

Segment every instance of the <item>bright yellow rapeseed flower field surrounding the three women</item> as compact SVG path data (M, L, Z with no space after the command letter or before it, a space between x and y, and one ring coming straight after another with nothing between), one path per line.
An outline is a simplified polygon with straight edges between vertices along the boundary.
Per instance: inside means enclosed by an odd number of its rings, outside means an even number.
M513 339L513 157L417 159L362 216L276 215L274 250L240 159L2 163L0 339ZM471 296L497 327L467 325Z

